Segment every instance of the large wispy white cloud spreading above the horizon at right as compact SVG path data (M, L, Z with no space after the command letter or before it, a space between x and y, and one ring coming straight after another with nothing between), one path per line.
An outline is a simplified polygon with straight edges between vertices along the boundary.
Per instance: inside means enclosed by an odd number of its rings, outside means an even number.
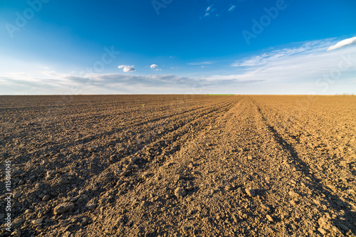
M320 78L333 78L335 81L337 78L340 83L355 78L356 47L327 52L328 46L330 41L312 41L297 48L283 48L236 60L232 64L239 70L235 78L264 79L279 85L315 85Z

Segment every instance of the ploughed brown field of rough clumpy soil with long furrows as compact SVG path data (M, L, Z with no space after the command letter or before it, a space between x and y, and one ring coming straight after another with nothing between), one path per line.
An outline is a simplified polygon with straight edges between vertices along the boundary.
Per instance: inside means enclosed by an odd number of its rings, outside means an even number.
M1 96L0 111L14 236L356 236L355 97Z

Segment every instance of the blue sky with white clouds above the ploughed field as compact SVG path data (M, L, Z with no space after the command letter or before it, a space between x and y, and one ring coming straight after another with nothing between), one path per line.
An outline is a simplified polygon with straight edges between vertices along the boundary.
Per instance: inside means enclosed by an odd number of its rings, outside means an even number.
M354 0L1 1L0 94L356 93L355 10Z

